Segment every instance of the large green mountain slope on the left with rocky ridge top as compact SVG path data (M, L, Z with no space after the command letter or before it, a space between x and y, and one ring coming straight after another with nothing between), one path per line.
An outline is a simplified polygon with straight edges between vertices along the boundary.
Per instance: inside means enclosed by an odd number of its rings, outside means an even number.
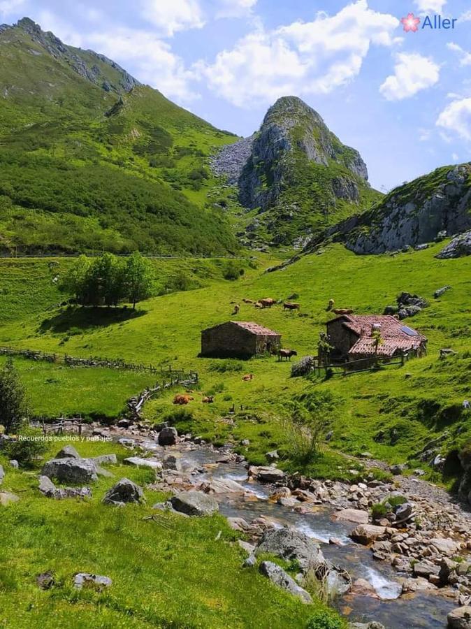
M224 254L208 156L235 138L103 55L0 27L0 250Z

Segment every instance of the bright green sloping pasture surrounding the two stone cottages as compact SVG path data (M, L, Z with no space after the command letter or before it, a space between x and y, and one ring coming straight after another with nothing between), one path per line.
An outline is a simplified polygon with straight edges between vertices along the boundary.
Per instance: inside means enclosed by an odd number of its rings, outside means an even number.
M354 455L370 451L391 463L404 461L415 458L429 440L445 430L449 437L444 449L471 438L470 417L461 407L463 399L469 397L471 274L466 259L435 259L441 246L396 256L355 256L334 245L324 254L305 256L276 273L261 274L260 269L249 268L235 282L212 277L204 288L144 302L141 316L114 323L96 321L92 327L80 328L80 319L77 315L70 319L71 312L38 309L2 326L0 344L73 355L122 356L196 369L201 393L214 393L215 404L201 404L197 392L196 400L181 413L172 404L173 393L168 393L147 406L147 417L161 421L170 416L180 422L180 428L218 442L231 435L236 442L249 438L251 444L245 452L253 461L265 461L265 453L278 447L285 457L281 464L287 468L295 465L289 435L280 422L293 400L307 409L320 408L330 414L333 449ZM266 259L267 264L270 262ZM451 290L435 300L433 292L445 284L451 284ZM382 312L400 291L416 292L430 301L429 308L410 319L410 324L428 337L428 356L403 368L391 366L324 381L291 379L289 363L278 363L273 357L229 362L197 358L201 329L234 318L231 302L241 305L238 319L258 321L279 331L284 347L295 348L302 356L317 351L329 298L340 307L372 313ZM242 303L242 298L287 298L294 292L299 295L300 315L283 312L280 306L256 310ZM51 318L61 325L44 325L44 320ZM71 321L73 334L67 328ZM458 354L440 361L441 347L452 347ZM40 367L33 363L31 369ZM243 382L245 373L253 373L254 379ZM100 382L97 379L98 388ZM57 399L43 403L41 412L48 405L51 414L61 412ZM228 416L233 404L237 412ZM383 431L380 438L379 431ZM342 475L351 467L335 459L343 471L330 464L326 469L328 456L326 451L312 471Z

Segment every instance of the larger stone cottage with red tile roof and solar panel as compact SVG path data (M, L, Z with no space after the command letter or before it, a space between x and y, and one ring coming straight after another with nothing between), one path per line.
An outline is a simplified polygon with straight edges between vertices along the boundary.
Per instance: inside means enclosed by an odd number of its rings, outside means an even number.
M368 363L375 356L387 360L402 354L423 356L427 351L426 337L391 315L340 315L326 325L334 360Z

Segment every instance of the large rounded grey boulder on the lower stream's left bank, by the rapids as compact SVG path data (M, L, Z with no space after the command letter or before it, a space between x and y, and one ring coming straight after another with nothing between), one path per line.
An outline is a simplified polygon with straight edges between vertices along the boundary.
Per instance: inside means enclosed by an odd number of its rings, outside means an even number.
M286 561L298 561L302 570L310 565L325 565L326 560L319 544L305 533L289 528L274 528L263 533L255 554L270 553Z

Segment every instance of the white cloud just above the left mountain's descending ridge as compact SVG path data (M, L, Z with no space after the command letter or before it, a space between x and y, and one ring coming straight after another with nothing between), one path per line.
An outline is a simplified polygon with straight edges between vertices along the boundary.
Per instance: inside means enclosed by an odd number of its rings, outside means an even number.
M190 87L194 78L175 55L168 43L149 31L117 28L106 33L87 35L87 46L102 52L124 68L132 68L133 75L141 82L156 87L166 96L186 102L198 97Z

